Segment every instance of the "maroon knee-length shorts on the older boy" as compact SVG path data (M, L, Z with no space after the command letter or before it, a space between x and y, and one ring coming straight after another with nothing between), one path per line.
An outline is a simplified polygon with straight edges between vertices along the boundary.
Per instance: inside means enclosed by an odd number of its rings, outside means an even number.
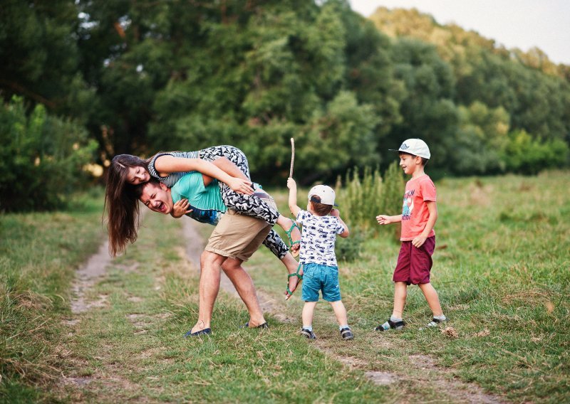
M392 280L406 282L408 285L430 283L433 250L435 235L426 238L420 248L415 248L411 241L403 241Z

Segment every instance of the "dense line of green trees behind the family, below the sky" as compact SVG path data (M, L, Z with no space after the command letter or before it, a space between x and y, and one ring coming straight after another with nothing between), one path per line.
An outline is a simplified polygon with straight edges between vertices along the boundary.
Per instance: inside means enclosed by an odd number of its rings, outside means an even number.
M385 167L407 137L430 144L435 172L568 164L568 66L417 11L369 21L343 0L8 0L0 59L5 102L21 95L85 127L100 164L229 143L257 179L279 181L290 137L306 182Z

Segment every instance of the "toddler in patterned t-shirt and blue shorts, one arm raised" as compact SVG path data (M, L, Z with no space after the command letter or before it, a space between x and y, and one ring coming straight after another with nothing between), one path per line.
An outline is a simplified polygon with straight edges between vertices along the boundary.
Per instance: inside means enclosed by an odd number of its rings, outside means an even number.
M338 321L342 339L353 339L348 326L346 309L341 300L341 287L338 285L338 266L334 245L336 235L348 237L348 226L341 219L335 206L333 188L317 185L309 191L309 203L304 211L297 206L297 184L287 180L289 188L289 208L298 223L303 225L301 232L301 256L303 265L303 328L301 334L308 339L316 339L313 332L313 313L318 302L318 292L331 304Z

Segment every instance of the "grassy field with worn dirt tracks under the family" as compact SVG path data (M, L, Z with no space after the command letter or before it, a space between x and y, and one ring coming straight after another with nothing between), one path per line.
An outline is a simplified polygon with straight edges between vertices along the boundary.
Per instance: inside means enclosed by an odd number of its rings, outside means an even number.
M0 216L0 398L564 402L568 178L555 171L437 182L432 284L450 319L447 333L418 330L430 311L417 287L408 291L408 326L373 331L391 312L399 245L391 229L367 234L361 257L340 265L353 341L339 338L324 302L316 310L318 340L297 334L300 293L283 301L285 271L265 250L247 270L270 303L271 329L240 329L247 321L242 302L221 292L212 337L183 339L197 315L197 270L185 258L181 221L155 213L145 216L128 254L86 292L97 304L73 314L73 271L101 240L100 198L67 213ZM207 235L209 228L201 230Z

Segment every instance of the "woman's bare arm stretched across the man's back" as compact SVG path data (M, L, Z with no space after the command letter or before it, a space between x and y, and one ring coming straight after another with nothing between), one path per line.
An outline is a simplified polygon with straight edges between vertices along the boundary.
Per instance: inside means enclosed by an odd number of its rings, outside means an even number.
M228 162L230 162L228 160ZM184 159L182 157L170 156L164 154L155 160L155 169L161 176L171 173L185 171L199 171L206 176L218 179L232 188L232 191L251 195L254 191L251 187L252 181L244 179L245 175L241 173L239 177L231 176L215 164L202 159Z

